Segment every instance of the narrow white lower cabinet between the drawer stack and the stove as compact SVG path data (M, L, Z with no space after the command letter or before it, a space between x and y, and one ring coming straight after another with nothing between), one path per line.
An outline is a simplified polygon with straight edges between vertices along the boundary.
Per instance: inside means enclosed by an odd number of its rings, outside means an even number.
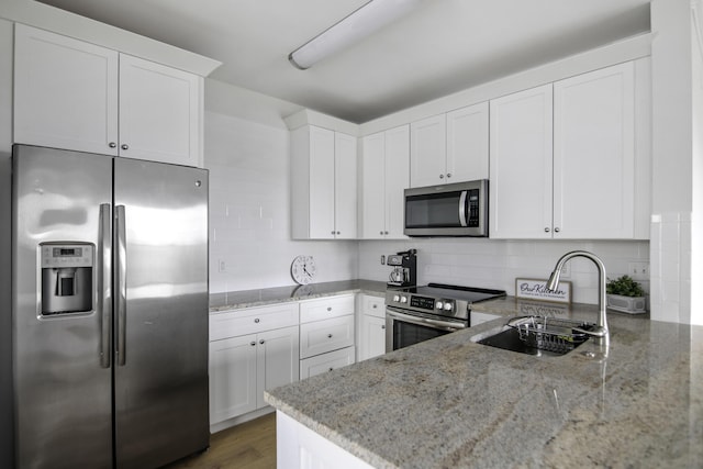
M359 294L358 360L386 353L386 301L379 297Z

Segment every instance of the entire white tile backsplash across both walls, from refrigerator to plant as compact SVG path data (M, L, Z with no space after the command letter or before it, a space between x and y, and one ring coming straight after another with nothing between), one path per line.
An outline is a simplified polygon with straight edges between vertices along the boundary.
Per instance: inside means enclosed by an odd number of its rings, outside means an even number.
M649 242L500 241L293 241L290 238L289 133L252 121L205 112L205 167L210 169L210 291L292 284L290 263L314 256L316 281L354 278L386 281L381 255L419 250L419 282L499 288L515 278L547 278L573 249L600 256L611 278L629 263L649 260ZM563 280L573 301L598 301L598 276L588 259L569 263ZM643 282L649 289L649 282Z

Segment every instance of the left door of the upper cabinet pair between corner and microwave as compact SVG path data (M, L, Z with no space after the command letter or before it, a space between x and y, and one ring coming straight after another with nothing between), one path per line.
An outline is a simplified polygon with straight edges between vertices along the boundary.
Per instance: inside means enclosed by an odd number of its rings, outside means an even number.
M362 239L379 239L386 231L386 133L368 135L361 141Z

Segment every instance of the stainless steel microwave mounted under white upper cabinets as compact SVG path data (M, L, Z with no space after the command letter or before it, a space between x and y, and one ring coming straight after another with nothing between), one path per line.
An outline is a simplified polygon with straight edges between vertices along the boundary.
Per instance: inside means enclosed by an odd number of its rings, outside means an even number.
M488 236L488 179L405 189L408 236Z

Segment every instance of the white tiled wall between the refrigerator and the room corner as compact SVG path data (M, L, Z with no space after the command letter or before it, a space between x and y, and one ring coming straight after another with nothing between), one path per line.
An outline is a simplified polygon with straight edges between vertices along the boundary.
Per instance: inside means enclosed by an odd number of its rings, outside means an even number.
M357 278L357 242L290 239L289 155L284 125L205 112L211 292L292 284L300 254L315 258L317 281Z

